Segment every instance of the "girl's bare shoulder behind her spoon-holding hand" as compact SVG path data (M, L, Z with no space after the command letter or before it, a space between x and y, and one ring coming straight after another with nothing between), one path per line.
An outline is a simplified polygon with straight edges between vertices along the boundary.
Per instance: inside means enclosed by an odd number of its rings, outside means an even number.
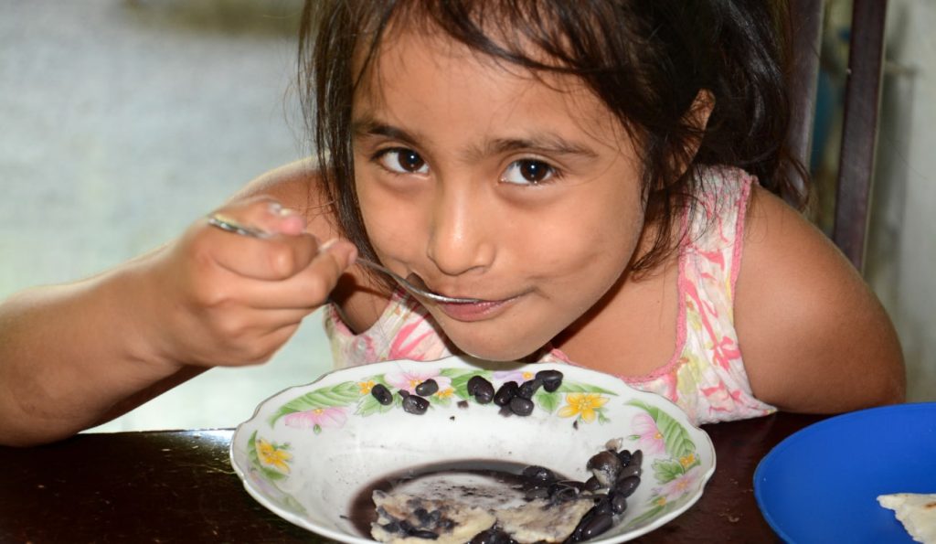
M306 217L306 230L319 242L340 237L329 198L322 190L321 176L314 160L296 161L258 176L231 199L265 196L275 198L287 208ZM369 329L387 307L385 288L359 267L352 267L331 293L334 302L352 331Z

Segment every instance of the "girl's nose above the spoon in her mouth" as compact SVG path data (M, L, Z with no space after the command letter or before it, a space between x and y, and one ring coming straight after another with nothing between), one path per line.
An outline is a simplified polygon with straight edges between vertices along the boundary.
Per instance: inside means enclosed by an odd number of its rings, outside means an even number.
M440 272L457 276L490 266L495 254L491 212L483 194L470 187L449 188L436 194L427 256Z

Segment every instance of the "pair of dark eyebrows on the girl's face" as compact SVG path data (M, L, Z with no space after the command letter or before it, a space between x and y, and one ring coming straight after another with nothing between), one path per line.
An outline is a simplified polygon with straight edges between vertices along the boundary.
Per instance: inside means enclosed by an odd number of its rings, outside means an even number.
M418 134L408 132L398 126L380 123L373 117L366 117L351 124L355 138L382 136L399 140L408 145L417 146L424 139ZM558 134L541 133L528 138L496 138L485 141L482 146L472 146L466 151L468 158L474 159L488 154L505 154L518 151L530 151L540 154L579 155L587 158L598 156L590 147L566 140Z

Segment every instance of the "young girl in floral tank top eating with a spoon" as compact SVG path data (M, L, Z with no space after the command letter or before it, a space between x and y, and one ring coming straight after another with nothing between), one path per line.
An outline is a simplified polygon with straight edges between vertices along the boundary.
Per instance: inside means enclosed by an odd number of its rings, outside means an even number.
M899 402L880 304L801 203L762 2L309 2L318 162L150 255L0 306L0 440L268 360L327 304L340 366L563 360L698 423ZM778 198L779 195L782 198ZM327 241L327 242L326 242ZM353 266L358 252L442 294Z

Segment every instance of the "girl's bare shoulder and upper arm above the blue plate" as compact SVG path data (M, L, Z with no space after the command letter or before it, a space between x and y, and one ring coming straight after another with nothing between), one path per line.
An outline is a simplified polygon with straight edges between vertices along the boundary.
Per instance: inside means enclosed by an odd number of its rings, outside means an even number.
M801 214L752 191L735 324L754 395L797 412L900 402L897 333L851 263Z

